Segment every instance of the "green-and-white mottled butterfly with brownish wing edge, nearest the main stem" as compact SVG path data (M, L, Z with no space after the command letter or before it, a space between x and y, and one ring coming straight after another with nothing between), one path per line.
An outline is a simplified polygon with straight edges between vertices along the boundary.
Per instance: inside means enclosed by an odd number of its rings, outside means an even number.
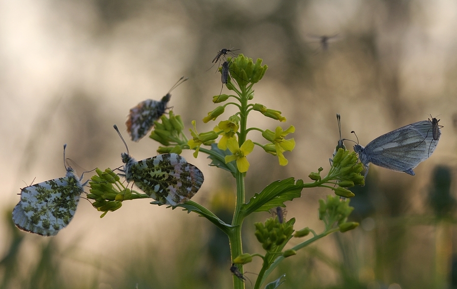
M125 144L117 126L114 129ZM127 148L127 145L125 144ZM127 182L133 181L158 204L176 206L190 200L203 184L203 173L196 166L178 154L166 153L136 161L126 153L121 153L124 169L122 175Z

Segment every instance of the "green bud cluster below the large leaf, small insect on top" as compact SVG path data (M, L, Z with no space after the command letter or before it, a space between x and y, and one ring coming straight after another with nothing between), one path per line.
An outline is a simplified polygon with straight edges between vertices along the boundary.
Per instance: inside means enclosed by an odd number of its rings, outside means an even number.
M278 217L271 217L265 221L265 224L261 222L254 224L255 235L265 251L275 252L277 247L283 246L292 236L294 223L295 218L280 223Z

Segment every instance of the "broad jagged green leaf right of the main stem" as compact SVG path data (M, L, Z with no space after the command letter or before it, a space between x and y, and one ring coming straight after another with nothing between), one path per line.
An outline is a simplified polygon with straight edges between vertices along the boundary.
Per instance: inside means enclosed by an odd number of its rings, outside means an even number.
M253 212L267 212L278 206L284 207L285 201L300 197L302 189L303 180L295 182L293 177L274 181L262 192L254 194L249 203L242 205L241 211L248 216Z

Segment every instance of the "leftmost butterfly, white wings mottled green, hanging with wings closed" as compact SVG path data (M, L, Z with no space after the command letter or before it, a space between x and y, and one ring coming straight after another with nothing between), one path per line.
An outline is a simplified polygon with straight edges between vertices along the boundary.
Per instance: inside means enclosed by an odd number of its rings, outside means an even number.
M21 189L21 200L13 210L13 221L19 229L55 236L70 223L87 182L82 184L83 176L79 178L71 167L65 169L65 177Z

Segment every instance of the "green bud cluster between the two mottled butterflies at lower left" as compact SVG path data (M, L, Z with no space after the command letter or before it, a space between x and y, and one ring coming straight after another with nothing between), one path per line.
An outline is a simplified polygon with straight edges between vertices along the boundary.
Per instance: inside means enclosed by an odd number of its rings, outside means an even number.
M92 206L99 212L104 212L104 217L109 211L113 212L122 206L123 200L131 199L132 192L124 188L120 183L119 176L112 169L95 169L96 175L93 175L89 181L88 199L95 200ZM114 187L116 185L116 187ZM122 190L120 189L122 188Z

